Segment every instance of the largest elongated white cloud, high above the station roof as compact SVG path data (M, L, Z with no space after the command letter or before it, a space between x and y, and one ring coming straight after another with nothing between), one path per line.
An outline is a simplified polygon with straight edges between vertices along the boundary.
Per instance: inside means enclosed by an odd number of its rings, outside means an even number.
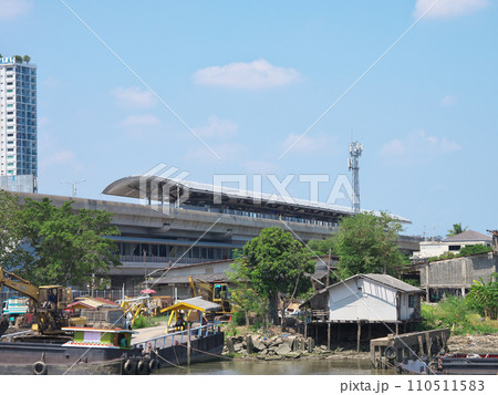
M289 85L300 76L294 69L274 66L259 59L250 63L229 63L198 70L194 73L194 82L199 85L262 90Z

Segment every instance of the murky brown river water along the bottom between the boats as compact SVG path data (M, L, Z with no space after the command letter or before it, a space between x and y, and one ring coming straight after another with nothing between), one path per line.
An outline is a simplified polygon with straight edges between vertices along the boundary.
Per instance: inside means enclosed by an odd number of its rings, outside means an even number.
M346 375L346 374L393 374L391 371L372 370L370 361L362 360L294 360L294 361L217 361L190 365L190 367L167 367L157 374L177 375Z

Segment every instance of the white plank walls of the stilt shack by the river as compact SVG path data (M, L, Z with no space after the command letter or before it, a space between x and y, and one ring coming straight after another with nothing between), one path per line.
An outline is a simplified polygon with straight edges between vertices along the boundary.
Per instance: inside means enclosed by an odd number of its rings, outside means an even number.
M366 279L352 279L329 290L329 319L396 321L396 293L390 287Z

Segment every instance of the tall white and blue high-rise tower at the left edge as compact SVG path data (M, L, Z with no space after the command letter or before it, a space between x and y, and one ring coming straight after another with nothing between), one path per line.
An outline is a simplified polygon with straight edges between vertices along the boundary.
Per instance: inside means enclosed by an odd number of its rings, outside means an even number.
M0 176L38 177L37 66L0 58Z

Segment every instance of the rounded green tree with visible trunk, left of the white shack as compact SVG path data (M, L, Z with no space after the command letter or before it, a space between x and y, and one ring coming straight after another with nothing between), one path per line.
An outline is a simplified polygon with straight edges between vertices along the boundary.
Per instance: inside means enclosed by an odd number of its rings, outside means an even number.
M279 300L283 318L292 299L311 287L305 277L315 269L311 252L289 232L266 228L243 246L242 253L250 282L258 294L268 299L271 320L278 324ZM283 300L283 295L288 298Z

